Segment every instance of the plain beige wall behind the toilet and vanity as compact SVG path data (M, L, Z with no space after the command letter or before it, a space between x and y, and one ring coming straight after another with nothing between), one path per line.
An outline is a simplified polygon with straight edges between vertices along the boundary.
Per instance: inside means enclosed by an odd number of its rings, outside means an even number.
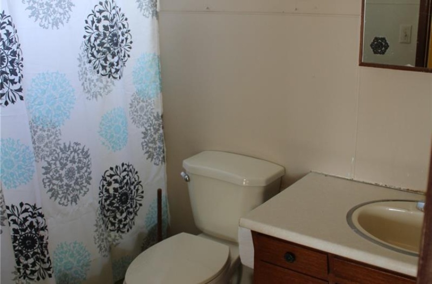
M172 233L197 232L179 172L203 150L281 164L283 188L314 170L425 190L432 75L359 67L360 6L161 0Z

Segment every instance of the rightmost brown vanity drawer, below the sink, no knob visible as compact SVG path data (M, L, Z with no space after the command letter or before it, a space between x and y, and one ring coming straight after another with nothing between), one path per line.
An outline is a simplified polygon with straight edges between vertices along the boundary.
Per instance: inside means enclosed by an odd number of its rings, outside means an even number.
M414 278L378 270L364 264L333 258L333 275L337 283L415 284ZM347 279L344 281L344 279Z

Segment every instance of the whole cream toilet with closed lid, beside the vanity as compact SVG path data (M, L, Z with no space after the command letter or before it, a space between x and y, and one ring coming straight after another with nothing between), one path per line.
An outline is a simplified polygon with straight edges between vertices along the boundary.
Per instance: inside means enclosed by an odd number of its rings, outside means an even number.
M238 281L238 220L279 193L285 170L264 160L204 151L183 161L195 225L141 253L124 284L195 284Z

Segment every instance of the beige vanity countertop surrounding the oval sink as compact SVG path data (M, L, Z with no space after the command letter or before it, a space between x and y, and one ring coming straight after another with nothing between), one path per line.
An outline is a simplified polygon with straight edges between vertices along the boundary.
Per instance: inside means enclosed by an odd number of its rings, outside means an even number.
M240 227L324 252L416 276L418 257L394 252L355 233L347 212L380 199L423 195L311 172L240 219Z

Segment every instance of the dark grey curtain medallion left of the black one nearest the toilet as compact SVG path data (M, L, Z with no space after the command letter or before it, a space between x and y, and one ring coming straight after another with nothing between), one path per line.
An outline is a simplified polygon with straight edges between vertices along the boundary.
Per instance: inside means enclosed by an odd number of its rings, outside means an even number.
M42 166L42 183L51 199L63 206L77 205L91 182L89 150L80 143L64 143L54 149Z

